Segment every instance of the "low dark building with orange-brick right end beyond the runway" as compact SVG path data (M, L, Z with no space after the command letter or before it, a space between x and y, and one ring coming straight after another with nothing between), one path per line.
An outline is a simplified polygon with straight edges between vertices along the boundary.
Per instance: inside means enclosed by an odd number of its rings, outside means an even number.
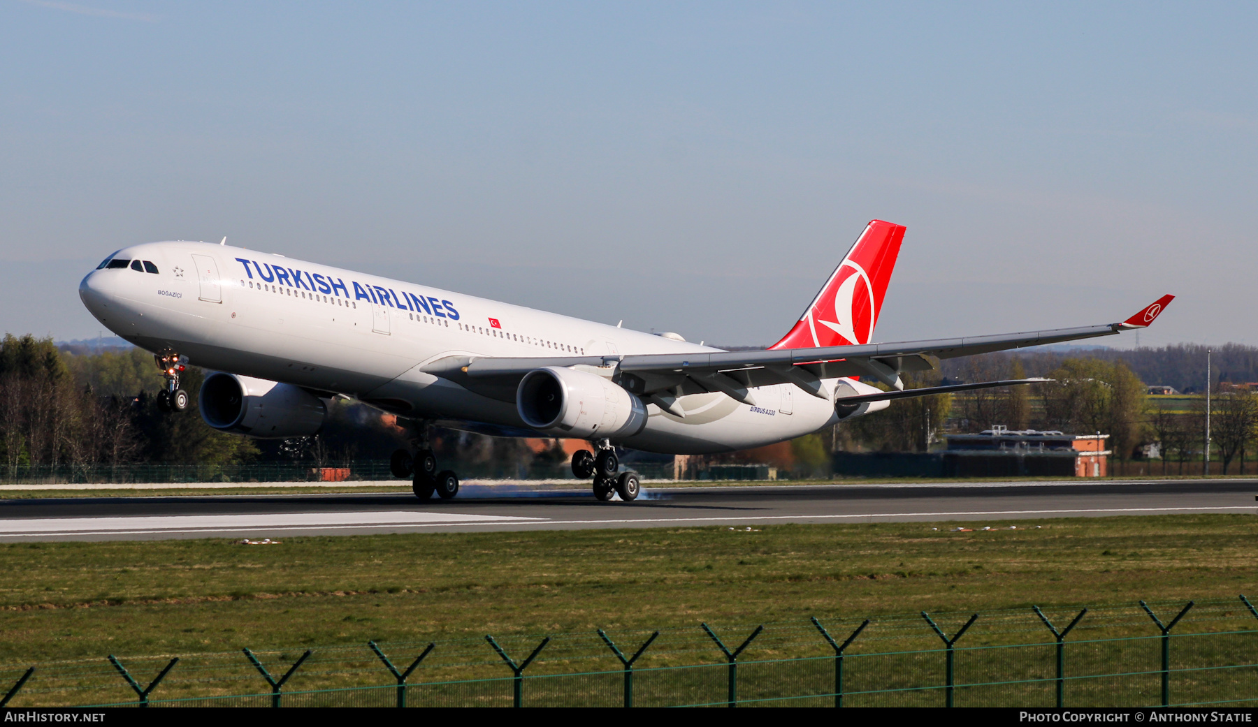
M947 453L961 475L1106 477L1108 434L1063 434L1057 430L1009 430L951 434Z

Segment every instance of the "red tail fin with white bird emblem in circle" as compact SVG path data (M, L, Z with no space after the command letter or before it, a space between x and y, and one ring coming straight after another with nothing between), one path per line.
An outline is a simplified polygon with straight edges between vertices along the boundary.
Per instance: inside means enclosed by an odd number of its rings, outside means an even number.
M770 348L868 343L903 239L903 225L869 223L795 327Z

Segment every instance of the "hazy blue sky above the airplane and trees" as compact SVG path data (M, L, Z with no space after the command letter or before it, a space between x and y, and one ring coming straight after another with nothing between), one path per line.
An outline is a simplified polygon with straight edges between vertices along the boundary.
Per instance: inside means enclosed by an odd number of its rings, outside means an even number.
M228 235L769 343L882 218L908 234L879 340L1170 292L1142 345L1258 345L1255 15L0 0L0 328L96 336L107 253Z

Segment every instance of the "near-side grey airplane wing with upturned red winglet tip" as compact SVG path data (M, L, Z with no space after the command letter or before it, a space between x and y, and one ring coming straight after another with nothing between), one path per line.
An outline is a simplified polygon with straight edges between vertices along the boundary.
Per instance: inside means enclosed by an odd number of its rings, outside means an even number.
M808 394L828 399L823 379L872 376L892 389L902 390L899 375L928 371L930 357L956 358L1009 351L1028 346L1081 341L1115 336L1132 328L1145 328L1161 313L1174 296L1162 296L1135 316L1118 323L1024 331L995 336L936 338L863 346L823 346L757 351L704 351L694 353L644 353L625 356L567 356L545 358L496 358L452 356L423 367L428 374L449 379L473 391L503 401L515 401L520 380L542 366L590 366L605 375L618 375L628 391L662 406L678 396L706 391L723 392L751 402L749 389L774 384L794 384Z

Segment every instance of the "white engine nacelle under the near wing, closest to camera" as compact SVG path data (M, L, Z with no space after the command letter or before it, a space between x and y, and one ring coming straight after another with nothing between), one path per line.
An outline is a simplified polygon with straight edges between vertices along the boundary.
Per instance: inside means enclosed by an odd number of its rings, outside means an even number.
M525 375L516 390L525 424L552 436L633 436L647 425L642 400L598 374L546 366Z

